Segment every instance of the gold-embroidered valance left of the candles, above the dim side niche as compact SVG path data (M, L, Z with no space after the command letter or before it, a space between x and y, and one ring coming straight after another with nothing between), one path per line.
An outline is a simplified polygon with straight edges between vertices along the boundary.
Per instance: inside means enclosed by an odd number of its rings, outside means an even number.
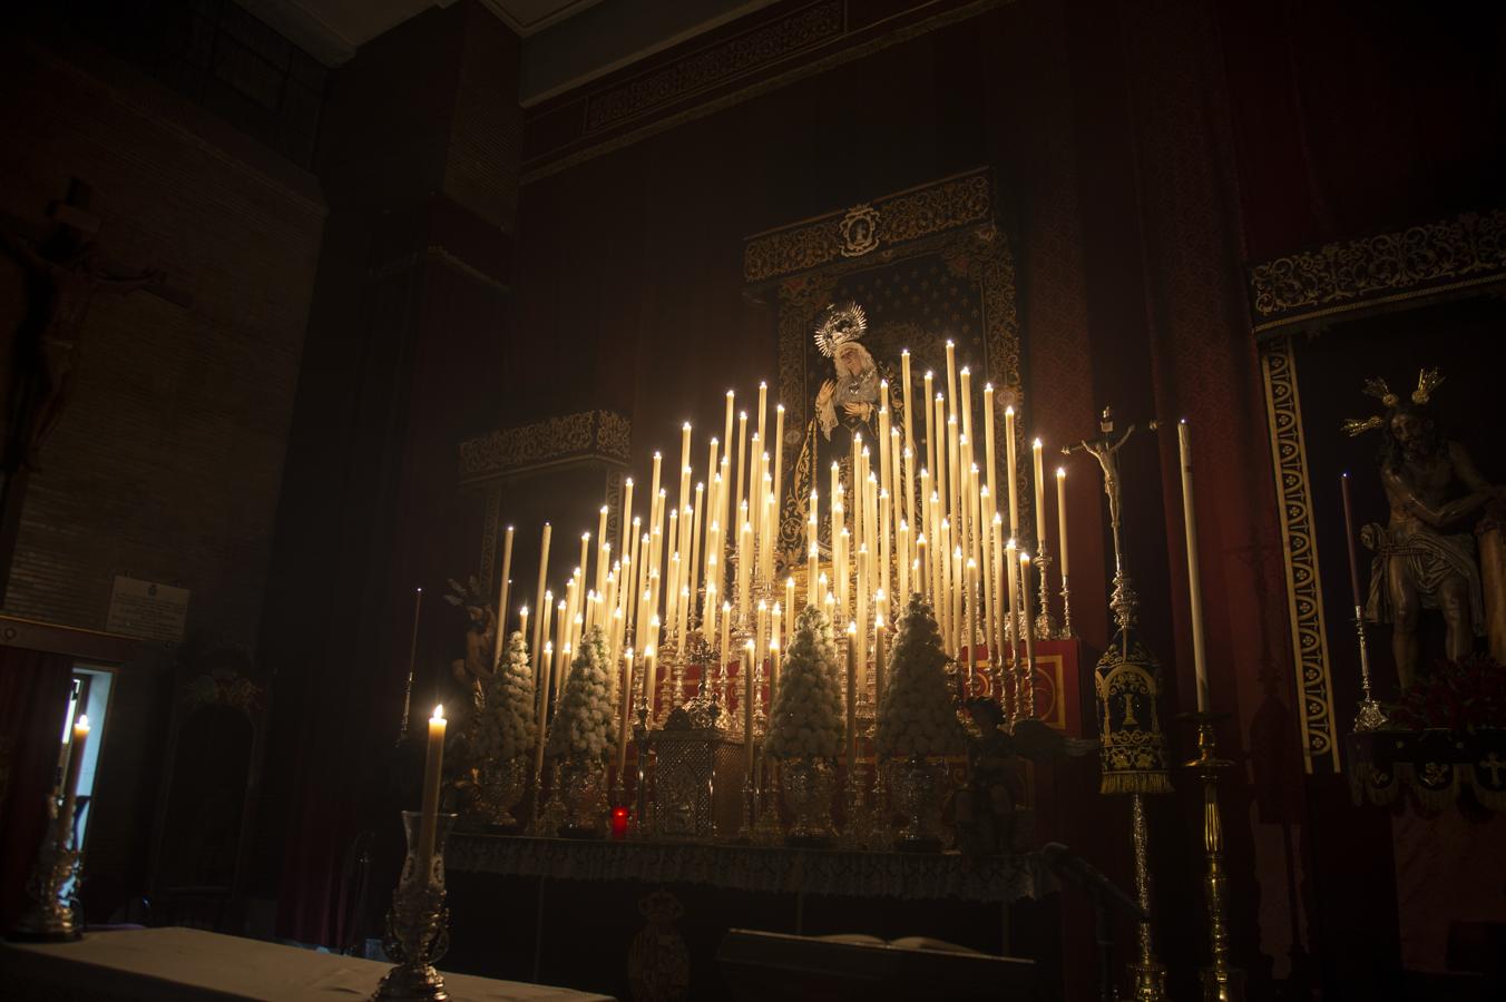
M581 411L461 442L461 483L599 459L626 465L633 424L613 411Z

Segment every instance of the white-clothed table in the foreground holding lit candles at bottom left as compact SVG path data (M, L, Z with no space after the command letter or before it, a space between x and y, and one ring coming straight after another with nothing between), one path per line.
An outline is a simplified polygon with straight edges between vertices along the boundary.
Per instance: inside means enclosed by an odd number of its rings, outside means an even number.
M194 928L86 933L0 945L0 993L18 1002L361 1002L390 964ZM453 1002L613 1002L568 988L444 975Z

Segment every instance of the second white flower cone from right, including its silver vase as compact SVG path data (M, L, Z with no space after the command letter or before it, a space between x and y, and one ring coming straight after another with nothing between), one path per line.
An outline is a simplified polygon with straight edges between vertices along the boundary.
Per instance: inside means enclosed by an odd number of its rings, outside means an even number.
M833 760L842 748L843 706L831 620L807 606L795 620L768 721L765 748L785 763L792 846L831 841Z

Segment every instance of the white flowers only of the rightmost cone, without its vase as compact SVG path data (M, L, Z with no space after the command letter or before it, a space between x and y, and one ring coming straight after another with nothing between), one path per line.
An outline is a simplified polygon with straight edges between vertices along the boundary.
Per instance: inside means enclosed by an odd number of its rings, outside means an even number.
M962 725L946 676L947 660L931 605L919 594L911 596L895 632L884 704L878 709L875 743L881 757L962 751Z

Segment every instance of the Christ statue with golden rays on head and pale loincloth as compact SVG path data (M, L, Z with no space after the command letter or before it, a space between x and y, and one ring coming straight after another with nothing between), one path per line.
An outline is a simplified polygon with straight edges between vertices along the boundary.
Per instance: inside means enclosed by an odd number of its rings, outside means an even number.
M1343 423L1348 435L1384 432L1379 472L1390 518L1384 527L1372 524L1360 531L1375 551L1364 615L1392 624L1402 689L1411 688L1417 674L1423 609L1443 614L1450 660L1468 656L1474 636L1485 635L1480 569L1465 519L1506 499L1506 487L1486 483L1459 442L1438 435L1429 399L1441 382L1437 369L1425 369L1411 399L1402 400L1384 379L1369 379L1364 391L1381 400L1386 414Z

